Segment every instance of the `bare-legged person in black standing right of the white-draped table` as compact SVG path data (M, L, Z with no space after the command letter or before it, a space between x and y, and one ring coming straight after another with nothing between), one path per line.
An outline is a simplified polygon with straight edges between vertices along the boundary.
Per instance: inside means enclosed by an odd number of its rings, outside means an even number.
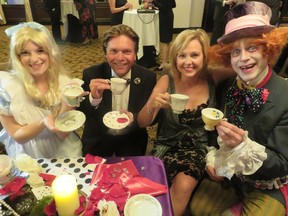
M159 9L159 33L161 42L162 63L155 70L162 70L163 65L168 63L170 42L173 39L173 8L176 7L175 0L153 0L154 7Z

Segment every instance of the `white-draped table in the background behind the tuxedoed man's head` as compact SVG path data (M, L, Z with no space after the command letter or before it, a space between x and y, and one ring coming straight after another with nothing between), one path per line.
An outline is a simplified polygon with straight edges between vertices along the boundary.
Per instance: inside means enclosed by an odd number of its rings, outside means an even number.
M143 46L154 46L157 55L160 53L159 11L155 13L137 13L137 9L126 10L123 24L130 26L139 36L138 59L143 55Z

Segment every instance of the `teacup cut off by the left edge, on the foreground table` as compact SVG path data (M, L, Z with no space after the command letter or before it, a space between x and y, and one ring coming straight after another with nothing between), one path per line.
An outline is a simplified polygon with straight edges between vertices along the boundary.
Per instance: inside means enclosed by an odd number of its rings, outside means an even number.
M5 184L12 179L14 164L8 155L0 155L0 184Z

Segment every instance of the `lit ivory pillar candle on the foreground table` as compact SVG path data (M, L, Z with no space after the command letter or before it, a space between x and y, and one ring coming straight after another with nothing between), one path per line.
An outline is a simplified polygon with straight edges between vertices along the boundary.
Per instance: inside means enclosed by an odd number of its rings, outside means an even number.
M56 177L52 193L59 216L73 216L80 206L75 177L68 174Z

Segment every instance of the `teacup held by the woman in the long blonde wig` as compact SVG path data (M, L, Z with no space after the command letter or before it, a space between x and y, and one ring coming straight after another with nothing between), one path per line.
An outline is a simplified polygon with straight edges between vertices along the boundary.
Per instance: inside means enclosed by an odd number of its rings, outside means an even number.
M79 85L67 85L63 88L62 94L66 102L71 107L78 107L82 101L82 93L84 90Z

